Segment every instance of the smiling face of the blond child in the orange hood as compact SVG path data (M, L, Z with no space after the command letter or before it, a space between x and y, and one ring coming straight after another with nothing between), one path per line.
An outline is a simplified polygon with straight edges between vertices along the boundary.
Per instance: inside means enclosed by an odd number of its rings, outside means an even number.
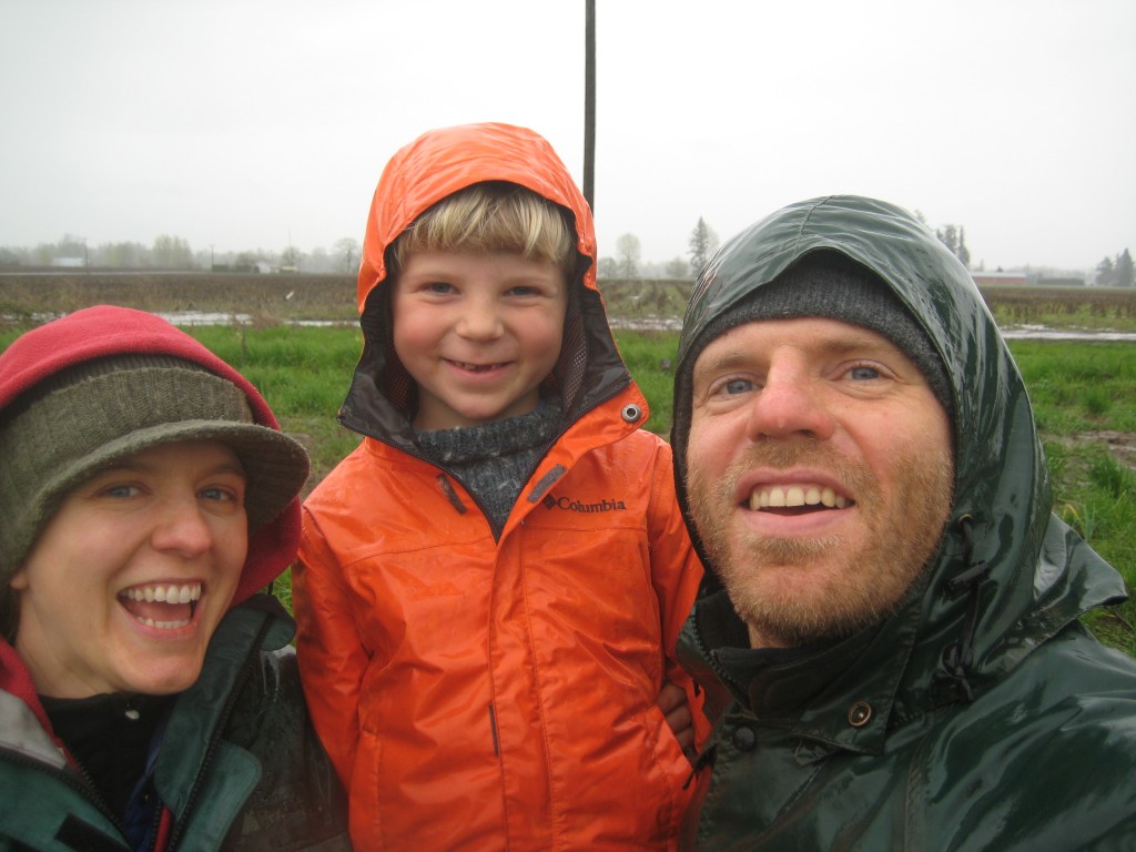
M394 351L418 385L415 427L444 429L536 408L560 357L567 286L512 253L412 254L391 294Z

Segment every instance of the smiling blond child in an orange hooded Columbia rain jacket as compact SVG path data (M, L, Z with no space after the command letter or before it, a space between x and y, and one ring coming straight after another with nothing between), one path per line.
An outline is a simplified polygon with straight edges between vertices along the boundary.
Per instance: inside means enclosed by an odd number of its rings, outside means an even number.
M294 573L357 849L676 845L691 767L657 699L694 704L674 651L701 566L595 260L531 131L426 133L378 183L340 410L365 438Z

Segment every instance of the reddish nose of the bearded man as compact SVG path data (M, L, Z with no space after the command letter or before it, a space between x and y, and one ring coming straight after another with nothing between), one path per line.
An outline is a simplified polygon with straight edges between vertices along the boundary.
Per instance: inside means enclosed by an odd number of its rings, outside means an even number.
M772 366L750 407L746 434L761 438L832 437L835 420L821 379L793 366Z

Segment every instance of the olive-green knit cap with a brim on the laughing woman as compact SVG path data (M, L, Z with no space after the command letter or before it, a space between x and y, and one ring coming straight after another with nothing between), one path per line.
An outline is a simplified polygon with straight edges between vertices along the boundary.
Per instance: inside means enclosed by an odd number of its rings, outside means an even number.
M72 488L117 459L179 441L216 441L236 453L250 531L275 519L308 477L303 448L256 425L244 392L192 361L112 356L27 391L0 421L0 583Z

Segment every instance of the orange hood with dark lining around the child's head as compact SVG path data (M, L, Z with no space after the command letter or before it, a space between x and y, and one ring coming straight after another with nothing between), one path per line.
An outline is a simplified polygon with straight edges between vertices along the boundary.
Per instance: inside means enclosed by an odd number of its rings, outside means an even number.
M592 210L542 136L507 124L428 131L391 158L367 217L358 300L364 352L340 421L415 452L408 420L411 381L394 354L386 250L429 207L478 183L524 186L567 210L578 264L569 286L563 349L556 370L566 416L575 419L630 382L616 351L595 282Z

